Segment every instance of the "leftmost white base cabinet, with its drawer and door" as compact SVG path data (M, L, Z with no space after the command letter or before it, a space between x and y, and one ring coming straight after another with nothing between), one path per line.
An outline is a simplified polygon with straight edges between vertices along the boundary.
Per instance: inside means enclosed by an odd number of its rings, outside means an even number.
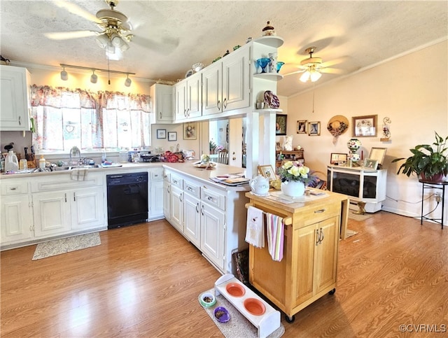
M1 183L0 244L25 241L32 237L33 209L28 182L10 179Z

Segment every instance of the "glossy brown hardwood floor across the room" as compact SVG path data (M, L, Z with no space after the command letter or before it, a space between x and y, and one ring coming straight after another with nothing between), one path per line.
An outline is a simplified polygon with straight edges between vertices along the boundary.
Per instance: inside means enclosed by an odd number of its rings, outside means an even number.
M349 229L335 295L282 315L283 337L446 335L448 227L379 211ZM43 260L35 246L1 253L1 337L222 337L197 302L220 274L169 223L100 235Z

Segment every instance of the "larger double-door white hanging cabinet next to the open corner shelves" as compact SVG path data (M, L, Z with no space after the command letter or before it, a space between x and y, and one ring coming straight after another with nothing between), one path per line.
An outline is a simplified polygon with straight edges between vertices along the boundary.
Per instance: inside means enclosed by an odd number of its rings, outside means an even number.
M250 106L250 48L241 48L203 71L202 115Z

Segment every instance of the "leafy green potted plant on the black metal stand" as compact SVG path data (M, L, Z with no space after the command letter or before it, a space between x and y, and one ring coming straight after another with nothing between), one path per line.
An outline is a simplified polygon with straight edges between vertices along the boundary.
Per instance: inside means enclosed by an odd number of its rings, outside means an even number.
M397 158L392 162L405 160L398 168L397 174L412 173L420 176L422 181L440 182L448 174L448 136L443 139L435 132L435 142L432 145L419 144L411 150L412 156Z

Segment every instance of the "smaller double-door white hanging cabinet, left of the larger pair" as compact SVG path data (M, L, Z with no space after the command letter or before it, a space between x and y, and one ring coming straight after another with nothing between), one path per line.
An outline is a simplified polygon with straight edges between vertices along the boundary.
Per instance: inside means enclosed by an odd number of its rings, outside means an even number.
M202 115L202 73L195 73L174 85L176 120L188 120Z

